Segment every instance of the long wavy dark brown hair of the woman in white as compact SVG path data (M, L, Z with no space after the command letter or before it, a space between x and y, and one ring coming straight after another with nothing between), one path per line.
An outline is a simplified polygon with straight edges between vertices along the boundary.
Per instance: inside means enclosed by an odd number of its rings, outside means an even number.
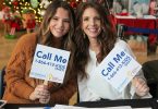
M74 64L75 64L75 72L87 77L85 72L85 66L89 59L89 40L87 36L84 38L84 32L82 29L82 16L84 11L87 8L95 9L98 14L100 15L101 21L101 33L97 37L98 43L100 43L101 50L100 53L97 56L98 61L101 61L114 47L117 41L117 33L112 26L112 22L110 20L109 10L105 9L101 4L97 2L83 2L76 9L76 31L73 40L75 43L76 49L74 51Z

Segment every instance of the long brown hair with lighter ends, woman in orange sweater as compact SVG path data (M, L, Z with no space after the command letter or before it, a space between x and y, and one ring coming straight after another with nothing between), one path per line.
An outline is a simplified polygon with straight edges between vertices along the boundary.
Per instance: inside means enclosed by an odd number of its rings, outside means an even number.
M57 9L58 8L63 8L69 12L69 16L70 16L70 31L68 34L65 34L63 36L63 48L66 49L68 43L70 43L69 40L71 39L71 37L74 35L74 29L75 29L75 15L74 15L74 11L73 9L68 4L66 1L62 1L62 0L53 0L49 7L46 10L46 13L44 15L44 20L41 22L41 25L39 27L38 31L38 43L42 44L42 45L47 45L47 46L53 46L52 43L52 38L53 35L51 34L50 29L49 29L49 24L51 19L54 16ZM62 48L62 49L63 49Z

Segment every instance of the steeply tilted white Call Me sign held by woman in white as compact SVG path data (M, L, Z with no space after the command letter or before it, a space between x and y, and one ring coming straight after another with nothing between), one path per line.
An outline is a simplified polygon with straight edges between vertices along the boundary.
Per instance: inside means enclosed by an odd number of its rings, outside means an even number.
M104 95L104 82L111 84L118 92L122 92L131 80L137 74L142 65L127 52L114 47L102 62L93 71L88 86ZM97 80L96 80L97 78ZM101 86L98 90L98 86Z

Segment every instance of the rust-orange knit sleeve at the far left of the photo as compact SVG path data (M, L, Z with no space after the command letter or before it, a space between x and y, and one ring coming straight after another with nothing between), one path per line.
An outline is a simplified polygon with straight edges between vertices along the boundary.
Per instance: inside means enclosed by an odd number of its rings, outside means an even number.
M25 82L26 51L25 40L21 38L7 65L5 82L13 95L28 99L34 88Z

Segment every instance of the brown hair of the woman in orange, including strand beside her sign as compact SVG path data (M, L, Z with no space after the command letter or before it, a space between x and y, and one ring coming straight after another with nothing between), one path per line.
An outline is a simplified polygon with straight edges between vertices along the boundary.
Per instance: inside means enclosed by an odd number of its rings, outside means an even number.
M68 34L65 34L62 37L60 49L71 51L70 47L71 46L74 47L73 41L72 41L72 36L74 35L74 31L75 31L75 14L74 14L74 10L70 7L70 4L66 1L53 0L49 4L49 7L47 8L46 13L44 15L44 20L41 22L39 31L37 32L37 43L49 46L49 47L54 46L53 35L51 34L51 32L49 29L49 24L50 24L51 19L56 14L58 8L65 9L69 12L69 17L70 17L70 31L68 32ZM64 77L65 81L69 80L70 75L72 75L72 74L70 74L70 70L72 66L71 64L73 64L72 57L70 58L70 61L68 64L68 71L66 71L66 75Z

